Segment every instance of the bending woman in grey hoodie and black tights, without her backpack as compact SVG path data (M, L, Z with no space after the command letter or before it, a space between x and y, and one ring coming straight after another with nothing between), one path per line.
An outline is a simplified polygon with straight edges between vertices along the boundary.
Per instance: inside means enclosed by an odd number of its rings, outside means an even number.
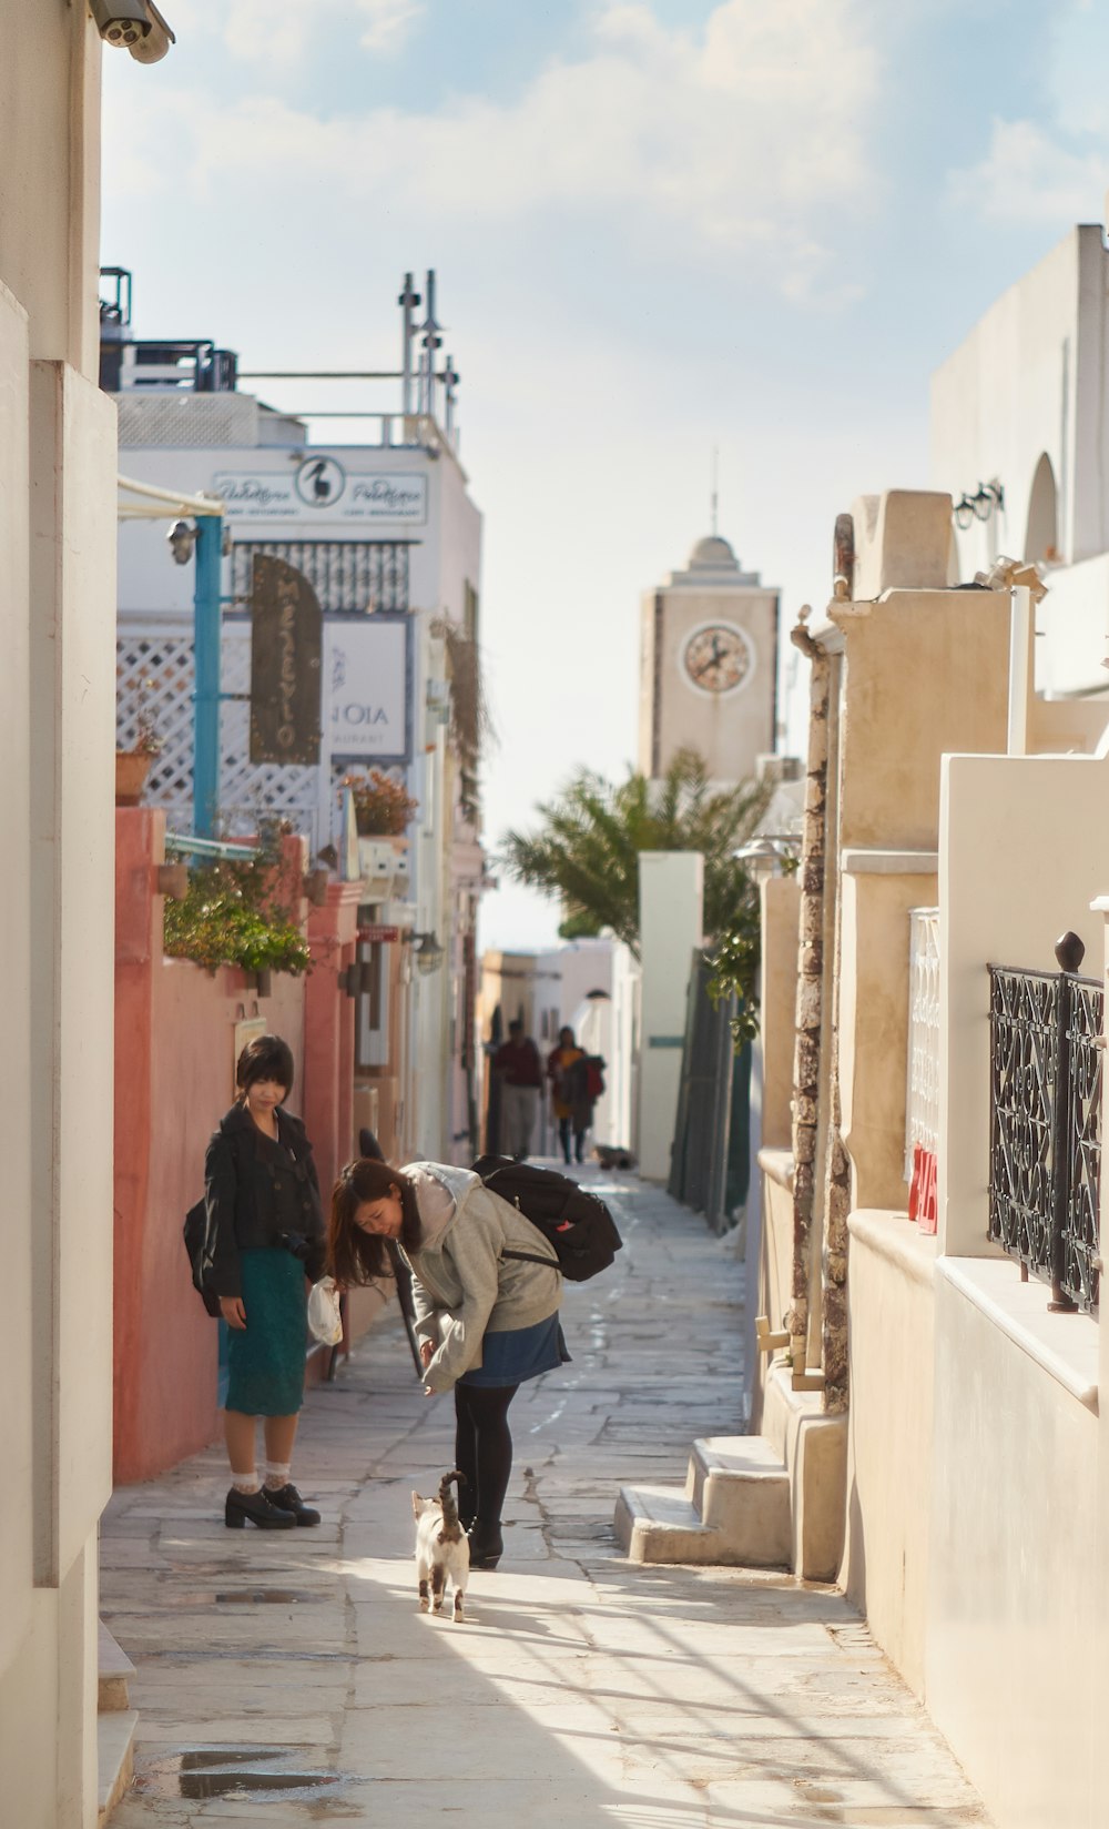
M570 1355L559 1326L557 1257L530 1220L470 1169L347 1163L331 1198L331 1269L340 1284L389 1275L396 1240L413 1271L424 1390L455 1392L459 1516L470 1564L495 1569L512 1472L508 1407L524 1379ZM528 1253L528 1258L512 1253ZM541 1258L541 1262L532 1262Z

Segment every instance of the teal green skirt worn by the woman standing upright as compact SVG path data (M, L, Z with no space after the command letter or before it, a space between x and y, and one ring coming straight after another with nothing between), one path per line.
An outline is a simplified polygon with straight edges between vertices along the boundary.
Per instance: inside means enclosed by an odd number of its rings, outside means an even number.
M227 1408L292 1416L303 1403L305 1273L290 1251L239 1251L247 1330L228 1328Z

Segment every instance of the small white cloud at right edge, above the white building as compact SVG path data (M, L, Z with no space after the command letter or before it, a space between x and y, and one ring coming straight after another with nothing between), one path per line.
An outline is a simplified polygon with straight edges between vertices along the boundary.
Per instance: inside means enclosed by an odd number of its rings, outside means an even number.
M1102 221L1109 148L1071 152L1034 121L990 124L990 148L979 165L948 176L948 196L994 221Z

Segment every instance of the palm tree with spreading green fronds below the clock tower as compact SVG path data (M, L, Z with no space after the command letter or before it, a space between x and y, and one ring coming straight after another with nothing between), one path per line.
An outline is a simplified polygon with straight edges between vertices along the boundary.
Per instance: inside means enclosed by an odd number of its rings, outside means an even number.
M733 860L769 803L755 781L711 788L703 757L678 750L661 781L628 770L612 785L579 768L541 805L533 832L506 832L501 861L510 876L559 896L566 940L610 929L639 951L639 852L700 850L705 860L705 935L747 938L758 957L758 896Z

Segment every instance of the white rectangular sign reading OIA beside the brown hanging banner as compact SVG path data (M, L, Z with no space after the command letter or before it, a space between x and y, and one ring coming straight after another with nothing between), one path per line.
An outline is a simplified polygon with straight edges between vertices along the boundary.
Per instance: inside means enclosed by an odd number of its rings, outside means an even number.
M334 761L411 757L411 616L329 616L323 624L323 730Z

